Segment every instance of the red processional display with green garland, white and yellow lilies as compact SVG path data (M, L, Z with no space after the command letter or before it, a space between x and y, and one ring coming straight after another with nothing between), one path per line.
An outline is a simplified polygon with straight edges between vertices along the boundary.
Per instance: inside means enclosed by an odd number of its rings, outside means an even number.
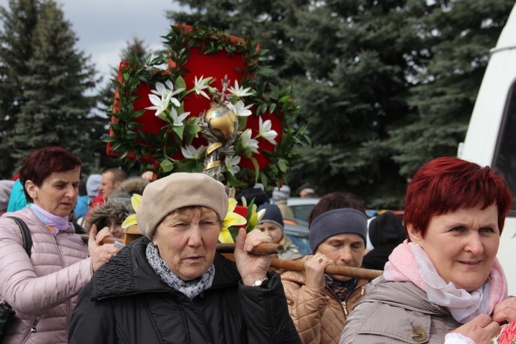
M203 172L223 182L230 204L219 241L233 242L239 227L252 230L263 216L252 201L237 206L235 188L279 186L309 142L306 126L294 123L299 108L290 87L255 80L270 72L259 65L267 51L255 40L178 24L164 39L168 53L120 63L107 153L129 166L151 163L157 178ZM131 215L122 227L134 224Z

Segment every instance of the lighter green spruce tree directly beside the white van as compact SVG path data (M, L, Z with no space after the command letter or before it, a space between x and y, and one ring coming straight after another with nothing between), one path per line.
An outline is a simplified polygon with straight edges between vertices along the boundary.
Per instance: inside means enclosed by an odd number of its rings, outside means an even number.
M389 131L383 147L394 147L393 160L407 178L437 156L455 156L464 140L475 98L514 1L437 1L422 18L431 56L411 88L407 125ZM428 42L428 43L427 43Z

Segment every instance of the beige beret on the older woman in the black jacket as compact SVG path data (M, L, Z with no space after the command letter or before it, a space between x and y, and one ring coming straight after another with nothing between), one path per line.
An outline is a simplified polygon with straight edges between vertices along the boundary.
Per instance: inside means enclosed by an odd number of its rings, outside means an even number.
M206 206L224 220L229 206L226 188L203 173L172 173L151 182L136 212L140 233L152 240L162 219L184 206Z

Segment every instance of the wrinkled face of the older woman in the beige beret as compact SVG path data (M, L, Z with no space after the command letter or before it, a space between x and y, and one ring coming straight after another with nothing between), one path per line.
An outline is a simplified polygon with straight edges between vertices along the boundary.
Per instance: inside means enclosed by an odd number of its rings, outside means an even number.
M165 217L152 239L170 270L191 281L213 263L220 229L219 217L210 208L184 208Z

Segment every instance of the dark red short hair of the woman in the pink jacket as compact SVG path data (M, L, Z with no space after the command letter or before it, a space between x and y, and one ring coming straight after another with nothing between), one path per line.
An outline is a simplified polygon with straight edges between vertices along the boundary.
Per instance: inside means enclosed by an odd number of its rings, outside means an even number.
M32 203L32 197L25 190L25 183L30 180L36 186L41 186L45 179L54 172L65 172L78 168L83 171L83 163L62 147L45 147L38 149L23 158L20 169L20 182L27 202Z

